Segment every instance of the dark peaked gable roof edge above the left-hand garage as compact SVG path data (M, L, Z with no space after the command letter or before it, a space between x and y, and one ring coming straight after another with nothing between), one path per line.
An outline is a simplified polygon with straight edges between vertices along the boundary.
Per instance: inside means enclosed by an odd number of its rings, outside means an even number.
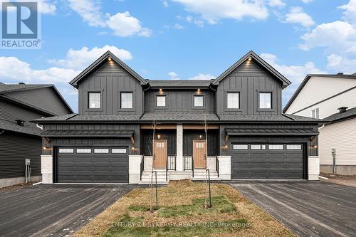
M140 81L141 85L147 85L147 81L142 78L140 75L138 75L134 70L132 70L128 65L126 65L124 62L122 62L122 60L120 60L119 58L117 58L113 53L111 53L110 51L106 52L103 54L103 56L101 56L100 58L98 58L97 60L95 60L94 63L90 64L88 66L88 68L85 68L85 70L83 70L83 72L81 72L79 75L77 75L73 80L70 81L70 85L73 85L73 87L78 89L78 82L80 80L82 80L83 78L85 78L85 76L87 76L88 74L90 74L93 70L95 70L96 68L98 68L100 65L103 64L103 62L105 62L106 60L108 60L108 58L111 58L111 60L113 60L115 63L117 63L118 65L120 65L122 68L124 68L125 70L127 70L128 73L130 73L134 78L136 78L137 80Z

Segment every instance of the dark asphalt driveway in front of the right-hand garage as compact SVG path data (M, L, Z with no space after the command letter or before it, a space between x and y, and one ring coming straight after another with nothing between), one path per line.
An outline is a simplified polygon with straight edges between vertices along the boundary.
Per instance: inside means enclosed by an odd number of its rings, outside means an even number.
M356 236L356 188L320 181L231 181L300 236Z

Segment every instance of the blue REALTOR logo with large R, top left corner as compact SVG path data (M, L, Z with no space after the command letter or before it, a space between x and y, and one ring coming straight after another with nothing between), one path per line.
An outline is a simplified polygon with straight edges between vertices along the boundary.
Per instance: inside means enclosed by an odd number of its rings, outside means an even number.
M2 2L1 48L41 48L37 2Z

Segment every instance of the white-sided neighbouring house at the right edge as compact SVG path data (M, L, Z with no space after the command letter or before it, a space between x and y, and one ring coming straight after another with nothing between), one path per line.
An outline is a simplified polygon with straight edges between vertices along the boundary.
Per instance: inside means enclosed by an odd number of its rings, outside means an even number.
M307 75L283 112L327 122L319 128L320 172L356 174L356 73Z

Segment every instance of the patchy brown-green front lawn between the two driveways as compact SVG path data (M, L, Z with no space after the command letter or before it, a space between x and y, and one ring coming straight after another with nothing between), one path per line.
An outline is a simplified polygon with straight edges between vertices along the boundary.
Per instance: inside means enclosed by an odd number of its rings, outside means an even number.
M134 189L74 236L295 236L233 187L211 184L208 209L205 191L204 183L171 181L150 211L150 189Z

